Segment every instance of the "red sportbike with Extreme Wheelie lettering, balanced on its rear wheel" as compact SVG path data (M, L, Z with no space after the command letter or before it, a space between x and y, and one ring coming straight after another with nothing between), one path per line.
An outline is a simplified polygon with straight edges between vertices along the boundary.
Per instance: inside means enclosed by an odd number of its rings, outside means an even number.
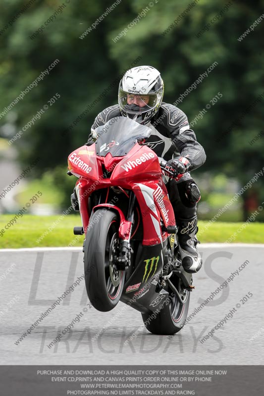
M192 275L178 251L177 226L156 153L144 145L151 129L116 117L94 131L96 142L68 157L78 177L84 272L99 311L119 300L141 312L154 334L175 334L187 317ZM180 177L180 176L178 176Z

